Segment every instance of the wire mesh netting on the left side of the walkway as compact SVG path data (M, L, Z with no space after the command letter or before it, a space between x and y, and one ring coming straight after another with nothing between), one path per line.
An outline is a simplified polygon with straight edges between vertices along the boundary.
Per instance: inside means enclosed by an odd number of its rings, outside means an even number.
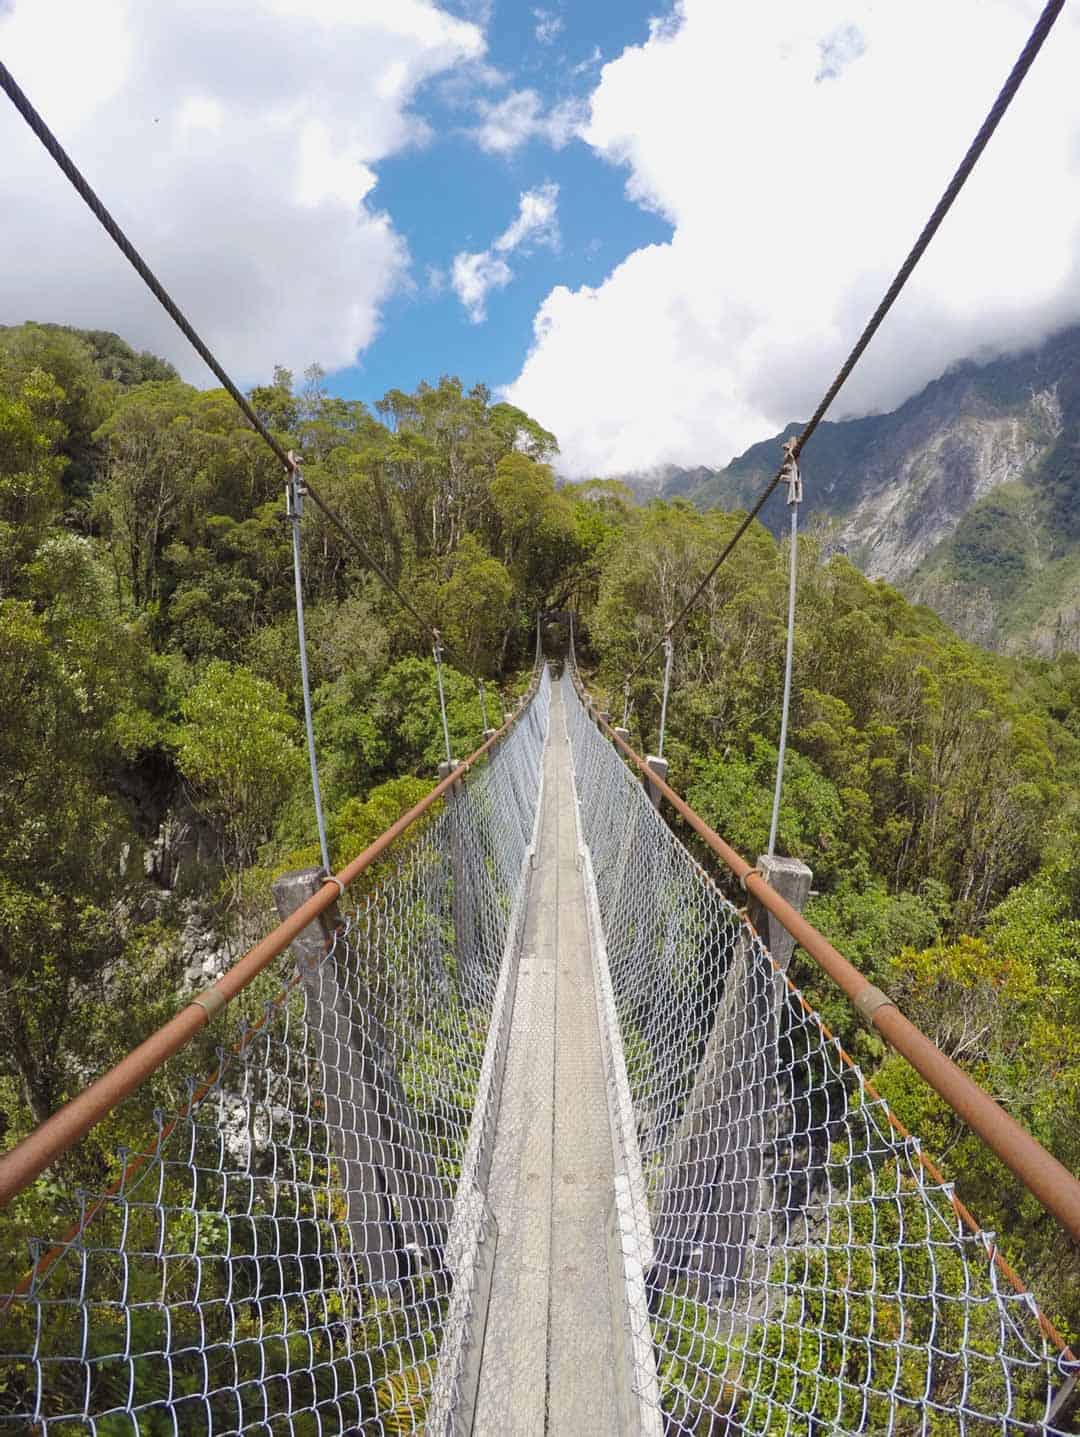
M246 994L217 1071L188 1053L125 1105L151 1131L119 1186L33 1234L0 1313L0 1431L448 1430L547 708L544 670L329 950Z

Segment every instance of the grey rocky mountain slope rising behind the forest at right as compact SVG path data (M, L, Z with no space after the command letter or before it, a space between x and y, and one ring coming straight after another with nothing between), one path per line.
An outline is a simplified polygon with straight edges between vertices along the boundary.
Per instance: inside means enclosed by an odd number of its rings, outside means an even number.
M797 428L635 487L745 507ZM988 647L1080 651L1080 326L959 365L892 414L823 424L803 474L804 516L872 578ZM783 491L763 517L786 527Z

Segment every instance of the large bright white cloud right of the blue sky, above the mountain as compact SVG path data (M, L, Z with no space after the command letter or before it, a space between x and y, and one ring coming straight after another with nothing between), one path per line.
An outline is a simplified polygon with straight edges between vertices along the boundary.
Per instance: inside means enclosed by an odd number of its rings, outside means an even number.
M585 138L671 240L559 287L508 395L570 470L718 464L806 417L938 200L1035 0L682 0L605 66ZM833 411L1080 318L1069 7Z

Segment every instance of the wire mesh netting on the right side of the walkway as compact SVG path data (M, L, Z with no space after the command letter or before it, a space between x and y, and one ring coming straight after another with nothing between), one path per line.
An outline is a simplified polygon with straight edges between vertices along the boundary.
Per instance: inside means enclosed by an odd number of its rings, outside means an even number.
M643 1428L1057 1431L1027 1424L1069 1372L992 1239L563 685L629 1091Z

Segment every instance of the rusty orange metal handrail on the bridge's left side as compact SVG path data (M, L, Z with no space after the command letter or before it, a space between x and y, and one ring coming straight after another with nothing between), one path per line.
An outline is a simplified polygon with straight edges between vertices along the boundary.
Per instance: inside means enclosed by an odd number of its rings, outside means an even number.
M425 795L419 803L415 803L408 813L402 813L396 823L391 823L385 833L381 833L373 844L369 844L335 878L327 878L317 894L300 904L296 912L280 923L273 933L269 933L253 948L248 948L243 957L237 958L233 967L217 983L198 993L168 1023L164 1023L155 1033L151 1033L149 1038L139 1043L138 1048L134 1048L126 1058L122 1058L115 1068L111 1068L109 1072L92 1082L89 1088L85 1088L76 1098L72 1098L63 1108L59 1108L52 1117L46 1118L22 1142L17 1142L9 1152L4 1152L0 1157L0 1209L6 1207L19 1193L24 1191L57 1158L69 1152L80 1138L86 1137L90 1128L96 1127L102 1118L112 1112L116 1104L131 1096L169 1058L190 1043L195 1033L205 1027L237 993L246 989L279 954L284 953L309 923L313 923L326 912L349 884L355 882L365 869L382 858L386 849L406 829L458 783L480 759L488 754L524 713L536 690L539 673L539 670L534 673L520 710L483 743L475 753L471 753L452 773L437 783L431 793Z

